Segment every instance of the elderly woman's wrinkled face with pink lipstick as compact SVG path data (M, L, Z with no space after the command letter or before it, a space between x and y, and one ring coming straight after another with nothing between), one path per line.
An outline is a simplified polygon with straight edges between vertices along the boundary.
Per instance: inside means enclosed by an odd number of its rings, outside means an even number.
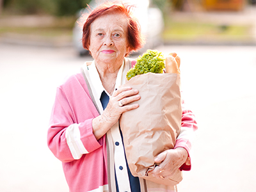
M96 63L120 65L129 52L127 25L120 13L102 15L92 22L89 50Z

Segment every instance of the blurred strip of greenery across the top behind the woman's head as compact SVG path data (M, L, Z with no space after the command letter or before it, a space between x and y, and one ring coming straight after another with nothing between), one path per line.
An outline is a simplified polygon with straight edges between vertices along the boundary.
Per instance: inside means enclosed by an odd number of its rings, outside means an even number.
M16 44L72 46L80 40L76 38L73 42L73 29L77 18L84 12L82 9L87 4L95 7L99 2L102 1L1 0L0 40ZM147 8L141 9L147 14L147 20L141 22L143 31L157 29L155 33L160 37L157 40L164 44L255 45L255 0L139 2ZM157 12L159 10L161 13ZM150 35L146 35L148 41L152 40ZM154 42L150 44L148 47L152 48Z

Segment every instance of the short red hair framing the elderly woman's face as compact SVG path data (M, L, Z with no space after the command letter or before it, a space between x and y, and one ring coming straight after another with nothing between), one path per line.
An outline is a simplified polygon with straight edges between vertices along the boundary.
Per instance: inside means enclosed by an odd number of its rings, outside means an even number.
M120 13L127 17L128 27L127 27L127 42L130 51L138 51L143 47L144 39L141 34L141 28L138 20L132 17L131 9L134 8L133 5L123 4L123 3L104 3L95 8L90 15L88 15L86 22L83 25L83 47L84 49L89 49L90 46L90 36L91 36L91 25L92 22L109 13ZM127 55L125 55L127 56Z

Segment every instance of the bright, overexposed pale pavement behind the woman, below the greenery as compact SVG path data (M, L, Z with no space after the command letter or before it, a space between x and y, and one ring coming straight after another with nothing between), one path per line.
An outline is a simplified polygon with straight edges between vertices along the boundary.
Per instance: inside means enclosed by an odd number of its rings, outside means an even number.
M199 125L181 192L255 191L256 47L157 47L182 58L182 90ZM68 192L46 144L56 86L90 57L0 44L0 191Z

